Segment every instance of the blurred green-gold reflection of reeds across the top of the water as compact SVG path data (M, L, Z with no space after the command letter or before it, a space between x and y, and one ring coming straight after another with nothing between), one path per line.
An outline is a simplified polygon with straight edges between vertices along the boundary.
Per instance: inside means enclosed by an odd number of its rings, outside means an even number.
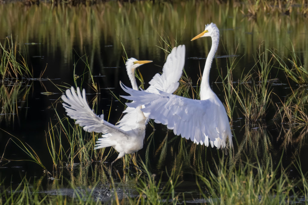
M105 75L105 67L119 66L121 55L124 55L123 40L129 56L140 59L144 54L152 60L164 53L156 47L160 45L160 36L168 36L170 42L180 38L187 45L187 50L200 50L202 58L209 52L210 40L188 43L195 34L201 33L205 23L215 22L220 28L222 43L217 56L224 56L224 50L234 55L238 46L239 55L246 55L247 61L257 56L257 48L262 41L261 52L268 54L267 49L275 48L282 55L288 54L293 42L296 51L306 51L308 35L305 19L297 12L288 15L274 15L259 10L255 19L245 17L241 5L233 3L217 5L204 2L181 2L152 4L152 2L135 2L134 4L107 2L90 7L52 7L41 3L39 6L25 8L22 4L3 4L0 6L0 38L18 35L19 50L31 53L39 50L35 56L57 56L60 49L60 73L72 64L74 50L79 56L85 48L90 54L91 71L94 59L99 60L99 70ZM247 12L244 8L244 12ZM205 12L206 11L206 12ZM18 15L15 15L18 13ZM17 23L18 22L18 23ZM184 29L185 28L185 29ZM184 31L183 31L184 30ZM290 40L289 40L290 38ZM187 43L186 43L187 42ZM225 46L224 47L222 46ZM106 47L107 46L107 47ZM111 46L111 47L110 47ZM192 47L194 49L192 49ZM47 51L46 54L44 51ZM108 50L101 56L101 52ZM22 53L24 54L24 53ZM307 64L308 54L298 53L299 58Z

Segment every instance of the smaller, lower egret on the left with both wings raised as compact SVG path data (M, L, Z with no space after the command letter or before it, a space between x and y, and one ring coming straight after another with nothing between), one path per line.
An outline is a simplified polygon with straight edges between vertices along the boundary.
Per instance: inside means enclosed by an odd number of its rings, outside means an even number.
M156 74L149 82L150 86L147 92L156 92L163 90L165 92L174 92L179 86L179 79L182 75L182 70L185 61L185 46L173 48L167 57L167 61L163 67L163 74ZM135 79L136 67L151 61L137 61L135 58L130 58L126 62L126 70L132 87L138 90ZM78 94L78 95L77 95ZM125 154L132 154L142 149L145 136L145 126L148 123L148 118L141 111L141 106L137 108L127 107L124 112L126 115L119 121L118 125L112 125L104 120L104 115L96 115L89 107L86 99L85 90L81 94L77 88L77 94L74 88L66 90L66 96L62 95L62 99L67 104L63 103L67 115L72 119L76 119L76 124L83 126L87 132L101 132L103 138L98 139L95 149L110 147L115 148L119 152L119 156L111 163L112 164L123 157Z

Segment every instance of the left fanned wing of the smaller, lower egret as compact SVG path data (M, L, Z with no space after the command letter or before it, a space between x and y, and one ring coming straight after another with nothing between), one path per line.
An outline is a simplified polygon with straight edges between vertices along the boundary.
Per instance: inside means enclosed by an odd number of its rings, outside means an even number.
M76 120L76 124L79 124L83 127L83 130L87 132L101 132L103 134L110 133L112 134L122 134L124 136L128 136L125 131L120 129L119 127L115 127L114 125L108 123L104 120L104 115L95 115L95 113L91 110L87 103L86 93L83 89L82 95L77 88L77 93L73 87L66 90L66 96L62 95L62 99L67 104L63 103L63 107L67 112L67 115L72 119Z

